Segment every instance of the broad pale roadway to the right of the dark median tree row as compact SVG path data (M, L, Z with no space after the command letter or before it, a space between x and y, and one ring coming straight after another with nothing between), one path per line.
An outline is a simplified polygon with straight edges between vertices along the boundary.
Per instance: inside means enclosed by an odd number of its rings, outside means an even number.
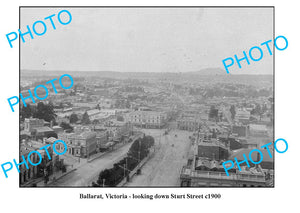
M156 153L142 168L141 175L135 175L125 186L180 186L180 171L187 163L192 133L172 130L163 135L165 130L142 131L155 138Z

